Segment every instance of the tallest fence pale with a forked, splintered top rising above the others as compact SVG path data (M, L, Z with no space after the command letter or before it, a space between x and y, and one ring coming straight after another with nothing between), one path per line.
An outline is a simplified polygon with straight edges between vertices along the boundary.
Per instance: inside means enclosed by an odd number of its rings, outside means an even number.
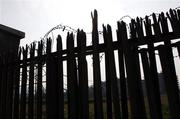
M98 35L98 14L94 10L92 17L92 45L93 45L93 82L94 82L94 107L95 119L103 119L103 104L102 104L102 87L101 87L101 74L100 74L100 61L99 61L99 35Z

